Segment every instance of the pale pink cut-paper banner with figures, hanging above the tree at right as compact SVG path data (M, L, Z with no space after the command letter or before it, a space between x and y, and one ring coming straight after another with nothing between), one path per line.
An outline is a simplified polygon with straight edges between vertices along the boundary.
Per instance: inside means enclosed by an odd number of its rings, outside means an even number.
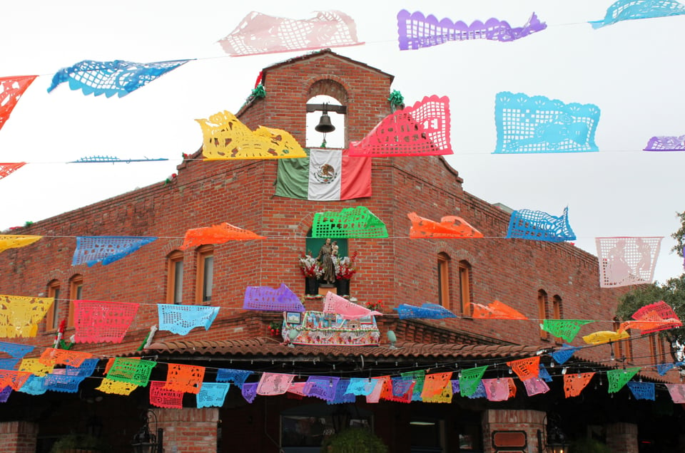
M661 248L661 237L598 237L599 286L651 283Z

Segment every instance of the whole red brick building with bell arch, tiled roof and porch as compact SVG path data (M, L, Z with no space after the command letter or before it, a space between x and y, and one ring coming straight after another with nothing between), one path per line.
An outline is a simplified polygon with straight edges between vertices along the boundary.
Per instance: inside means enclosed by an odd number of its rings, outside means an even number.
M332 51L315 52L265 68L266 97L250 100L237 115L250 129L280 128L304 143L305 105L315 96L329 95L347 108L345 142L361 140L391 113L387 98L392 79ZM50 347L59 321L70 319L71 300L138 302L138 316L123 343L79 343L74 350L101 358L151 358L160 364L153 370L153 380L165 380L166 363L203 365L208 368L208 381L213 380L210 370L217 368L375 377L407 370L456 375L485 364L491 365L487 377L508 377L507 361L544 350L542 360L549 366L549 351L562 343L536 322L473 319L471 302L499 300L529 318L614 318L620 292L599 288L595 256L567 243L502 239L509 222L507 209L465 192L462 178L442 157L374 158L372 197L340 202L275 196L277 170L275 160L203 161L200 150L178 166L178 177L168 184L136 189L21 229L17 234L46 238L0 254L1 293L57 298L36 338L21 341ZM377 347L288 348L268 333L268 325L280 320L280 313L242 309L245 287L285 283L303 293L297 259L315 244L307 238L313 215L359 205L385 222L390 238L347 239L348 253L357 251L360 256L351 294L360 303L385 302L385 316L377 317L377 323L384 335L387 330L396 333L397 348L390 348L385 337ZM485 238L410 240L409 212L430 219L459 215ZM222 222L266 239L181 250L188 229ZM158 239L125 259L87 267L71 266L75 236ZM400 320L392 311L401 303L438 300L460 316ZM183 336L159 331L147 349L137 351L158 321L156 303L179 301L219 306L220 312L209 330L196 328ZM320 310L320 301L308 298L305 306ZM612 321L593 323L584 326L577 338L594 330L614 330L614 326ZM65 336L71 333L73 328L67 328ZM612 349L617 360L609 358ZM654 336L634 338L584 348L568 368L571 372L621 365L649 368L663 350ZM664 382L670 377L646 368L641 373L644 379ZM84 381L77 394L14 392L0 405L5 451L46 452L57 437L86 431L98 432L113 452L130 451L133 434L141 425L138 415L149 406L148 389L139 388L128 397L98 392L94 388L102 369L103 365ZM450 404L367 404L357 397L355 404L326 405L314 398L282 395L257 397L248 404L233 387L223 407L198 409L193 395L186 395L183 410L156 408L155 413L164 429L166 452L314 452L318 439L289 439L286 427L302 420L323 420L335 430L350 422L369 425L392 452L492 452L509 435L514 440L507 451L532 453L544 444L552 414L568 437L602 437L616 452L638 452L639 445L640 451L649 451L650 446L656 448L653 451L666 451L664 445L676 444L677 439L668 434L677 432L673 425L681 410L670 400L664 407L667 395L660 395L654 404L630 400L627 389L612 397L607 395L606 377L598 375L595 387L587 387L581 397L565 399L560 367L549 370L550 392L528 397L518 382L517 396L506 402L455 395ZM604 387L597 385L602 380Z

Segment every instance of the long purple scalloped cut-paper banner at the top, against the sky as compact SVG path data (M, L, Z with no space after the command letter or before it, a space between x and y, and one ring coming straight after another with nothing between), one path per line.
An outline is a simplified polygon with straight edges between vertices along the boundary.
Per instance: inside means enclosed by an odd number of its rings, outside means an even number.
M410 13L403 9L397 13L397 33L400 51L438 46L448 41L472 41L487 39L489 41L511 42L525 38L532 33L542 31L547 24L540 22L535 13L520 27L512 27L506 21L487 19L473 21L467 25L463 21L451 19L438 20L432 14L424 16L419 11Z

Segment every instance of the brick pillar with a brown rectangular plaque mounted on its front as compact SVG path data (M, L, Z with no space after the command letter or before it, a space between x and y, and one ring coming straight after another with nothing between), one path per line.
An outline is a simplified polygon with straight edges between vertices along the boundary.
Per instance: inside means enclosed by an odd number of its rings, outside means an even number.
M539 410L509 410L497 409L486 410L482 416L483 428L483 452L494 452L492 446L492 433L499 431L524 431L527 438L527 447L522 449L527 453L539 453L537 445L538 430L544 439L544 412ZM510 448L519 451L518 448Z

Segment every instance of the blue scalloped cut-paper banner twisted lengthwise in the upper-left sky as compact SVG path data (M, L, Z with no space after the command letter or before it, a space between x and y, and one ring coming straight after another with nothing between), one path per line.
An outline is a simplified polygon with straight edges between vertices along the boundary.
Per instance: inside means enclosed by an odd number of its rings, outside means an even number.
M69 68L61 68L52 78L48 93L60 83L68 82L72 90L83 90L84 95L106 95L119 98L173 71L189 60L133 63L131 61L83 60Z

